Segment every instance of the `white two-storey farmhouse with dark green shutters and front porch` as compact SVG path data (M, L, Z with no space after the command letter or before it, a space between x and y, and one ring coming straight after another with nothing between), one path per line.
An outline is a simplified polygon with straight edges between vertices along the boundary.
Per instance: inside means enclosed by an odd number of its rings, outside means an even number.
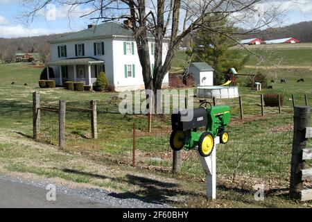
M92 86L101 71L105 71L109 84L116 91L144 89L141 64L137 55L137 44L128 26L107 22L71 33L50 41L52 61L46 67L53 67L56 85L67 80L82 81ZM150 61L153 70L155 42L149 38ZM163 61L168 43L163 44ZM163 87L168 86L168 74Z

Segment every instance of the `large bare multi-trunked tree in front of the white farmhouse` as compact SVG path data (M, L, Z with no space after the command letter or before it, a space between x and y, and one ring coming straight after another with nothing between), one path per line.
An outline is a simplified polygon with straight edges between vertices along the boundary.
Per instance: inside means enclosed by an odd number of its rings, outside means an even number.
M155 92L162 87L162 80L171 67L171 60L184 37L198 29L221 33L227 37L233 34L215 26L217 21L207 21L211 15L222 15L244 27L245 33L252 33L268 26L278 16L276 6L260 10L260 3L268 0L24 0L31 8L28 19L33 20L37 12L49 3L65 4L69 10L80 6L92 8L85 17L95 17L98 21L130 21L133 37L137 42L137 51L142 67L146 89ZM218 17L219 18L219 17ZM214 23L215 22L215 23ZM149 40L155 39L155 68L150 69ZM163 44L168 52L163 59Z

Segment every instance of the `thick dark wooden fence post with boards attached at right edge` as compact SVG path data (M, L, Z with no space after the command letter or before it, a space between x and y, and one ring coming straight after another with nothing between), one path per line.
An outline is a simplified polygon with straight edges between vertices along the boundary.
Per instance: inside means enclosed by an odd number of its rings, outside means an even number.
M293 121L290 195L292 198L300 198L300 191L303 189L301 170L304 169L302 149L306 147L306 127L310 126L311 107L295 106Z

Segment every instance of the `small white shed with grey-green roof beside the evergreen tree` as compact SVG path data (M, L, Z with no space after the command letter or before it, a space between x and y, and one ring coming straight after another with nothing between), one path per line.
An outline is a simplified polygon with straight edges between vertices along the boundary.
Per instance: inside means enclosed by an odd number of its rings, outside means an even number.
M197 86L214 85L214 68L207 62L192 62L189 73L193 74Z

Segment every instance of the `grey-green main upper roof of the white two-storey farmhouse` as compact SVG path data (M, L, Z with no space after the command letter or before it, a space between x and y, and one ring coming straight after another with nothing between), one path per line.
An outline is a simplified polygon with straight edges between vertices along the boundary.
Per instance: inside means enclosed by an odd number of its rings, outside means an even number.
M105 22L97 26L92 26L92 28L87 28L83 31L70 33L69 35L58 37L55 40L51 40L49 42L50 43L69 42L72 40L87 40L112 36L132 37L132 34L133 34L132 30L130 28L126 28L126 26L123 24L117 22Z

